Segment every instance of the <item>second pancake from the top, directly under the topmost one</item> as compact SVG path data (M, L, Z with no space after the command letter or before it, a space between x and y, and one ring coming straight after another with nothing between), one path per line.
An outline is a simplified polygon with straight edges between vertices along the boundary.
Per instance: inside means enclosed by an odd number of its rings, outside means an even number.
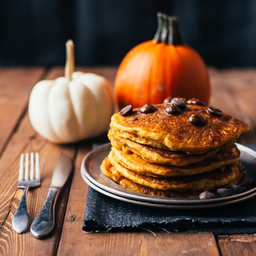
M173 151L165 148L155 148L148 145L143 145L129 139L115 135L112 129L108 132L108 138L111 145L124 152L132 152L135 155L140 155L147 162L155 162L160 164L170 164L175 166L184 166L215 155L219 150L227 148L234 144L234 141L224 144L221 148L210 150L201 155L189 155L182 151Z

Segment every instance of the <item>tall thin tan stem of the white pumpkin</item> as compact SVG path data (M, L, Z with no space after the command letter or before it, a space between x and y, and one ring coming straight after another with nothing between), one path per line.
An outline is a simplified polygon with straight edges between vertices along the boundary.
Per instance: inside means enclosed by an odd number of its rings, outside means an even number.
M68 79L68 81L72 80L73 72L74 72L74 42L72 40L67 40L65 77Z

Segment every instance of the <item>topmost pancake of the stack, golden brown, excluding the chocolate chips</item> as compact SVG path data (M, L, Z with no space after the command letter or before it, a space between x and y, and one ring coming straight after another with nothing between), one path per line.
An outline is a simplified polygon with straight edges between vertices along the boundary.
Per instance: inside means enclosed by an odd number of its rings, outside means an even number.
M167 114L165 108L168 104L154 106L156 111L153 113L141 114L140 108L135 108L128 116L114 114L111 129L116 135L141 144L188 154L203 154L221 148L249 130L247 124L230 115L209 115L204 106L187 105L188 108L179 115ZM195 126L190 123L192 114L202 115L205 125Z

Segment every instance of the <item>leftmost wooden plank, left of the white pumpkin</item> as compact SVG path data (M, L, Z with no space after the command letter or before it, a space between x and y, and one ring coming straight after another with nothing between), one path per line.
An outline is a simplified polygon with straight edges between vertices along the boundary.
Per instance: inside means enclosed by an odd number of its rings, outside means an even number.
M0 68L0 155L27 107L29 93L42 67Z

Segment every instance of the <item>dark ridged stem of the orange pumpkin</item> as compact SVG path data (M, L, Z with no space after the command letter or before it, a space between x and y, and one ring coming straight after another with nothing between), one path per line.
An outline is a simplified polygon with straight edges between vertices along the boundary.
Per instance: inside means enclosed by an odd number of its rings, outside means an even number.
M156 43L181 45L182 38L177 17L157 13L158 28L154 40Z

